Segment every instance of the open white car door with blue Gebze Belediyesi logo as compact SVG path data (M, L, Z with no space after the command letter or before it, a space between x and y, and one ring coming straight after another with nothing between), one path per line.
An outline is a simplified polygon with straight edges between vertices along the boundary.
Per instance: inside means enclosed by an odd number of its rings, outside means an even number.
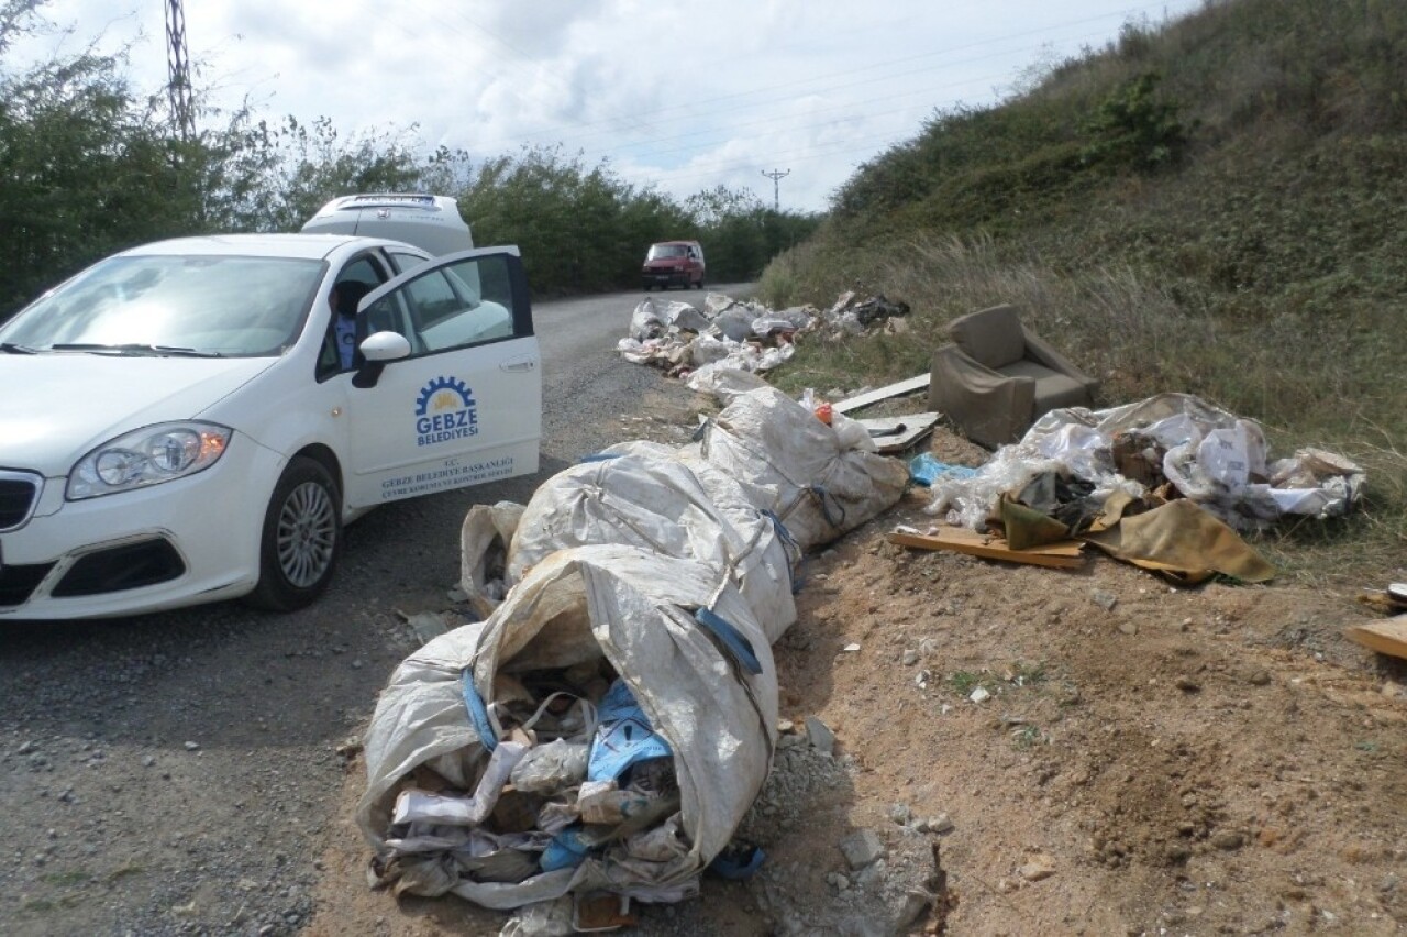
M518 248L391 280L362 300L357 336L374 360L348 402L349 508L537 471L542 357Z

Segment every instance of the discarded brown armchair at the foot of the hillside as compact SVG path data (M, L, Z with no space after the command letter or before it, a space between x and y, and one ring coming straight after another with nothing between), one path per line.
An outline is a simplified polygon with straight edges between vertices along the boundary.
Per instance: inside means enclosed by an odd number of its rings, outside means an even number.
M929 408L983 446L1016 442L1043 414L1093 404L1099 380L996 305L948 324L950 345L933 353Z

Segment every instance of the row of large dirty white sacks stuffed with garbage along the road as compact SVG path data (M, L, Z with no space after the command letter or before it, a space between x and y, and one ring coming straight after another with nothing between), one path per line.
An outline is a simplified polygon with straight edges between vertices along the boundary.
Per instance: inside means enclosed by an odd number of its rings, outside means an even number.
M622 443L473 508L460 585L484 620L408 657L366 737L374 884L567 933L756 867L730 840L777 743L798 564L906 481L763 387L689 446Z

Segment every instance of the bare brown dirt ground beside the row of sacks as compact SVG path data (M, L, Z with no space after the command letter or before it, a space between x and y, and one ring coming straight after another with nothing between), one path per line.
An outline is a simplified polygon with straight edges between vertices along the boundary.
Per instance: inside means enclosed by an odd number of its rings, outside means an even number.
M965 445L940 432L933 452L979 460ZM764 872L637 906L636 933L1407 923L1407 696L1397 668L1341 636L1369 615L1356 584L1180 589L1103 556L1062 571L889 544L896 523L933 523L924 504L912 492L806 563L775 647L778 785L743 824ZM834 733L832 756L808 718ZM367 888L362 784L353 760L307 933L497 933L502 913ZM847 861L857 834L879 862ZM924 891L943 885L936 913Z

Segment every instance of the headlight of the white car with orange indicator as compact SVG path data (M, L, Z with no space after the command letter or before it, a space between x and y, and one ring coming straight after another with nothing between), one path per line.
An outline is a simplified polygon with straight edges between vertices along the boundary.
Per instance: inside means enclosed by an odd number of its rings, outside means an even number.
M69 501L159 485L210 468L235 431L219 423L158 423L110 439L69 473Z

